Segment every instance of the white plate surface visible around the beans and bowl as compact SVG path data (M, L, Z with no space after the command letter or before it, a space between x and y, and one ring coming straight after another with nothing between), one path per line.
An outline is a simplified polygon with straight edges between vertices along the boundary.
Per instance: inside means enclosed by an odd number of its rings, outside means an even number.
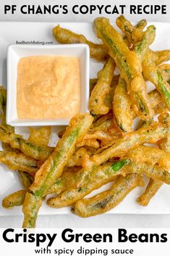
M51 29L54 28L57 22L0 22L0 84L4 86L7 83L7 46L15 44L16 41L52 41L56 44L52 36ZM61 27L74 30L77 33L83 33L91 41L98 42L98 39L93 33L92 23L80 22L64 22L60 23ZM170 49L170 23L152 22L156 25L156 40L152 45L152 49ZM90 61L90 77L94 78L98 70L102 67L101 63L96 62L94 59ZM62 128L53 128L51 145L56 144L57 131ZM27 128L17 128L17 133L22 133L25 138L27 137ZM1 149L0 149L1 150ZM105 188L108 188L106 185ZM21 189L22 186L17 177L17 173L9 170L4 165L0 165L0 202L7 194ZM102 191L101 188L99 191ZM135 199L142 193L144 188L137 188L132 191L124 201L115 207L109 213L116 214L169 214L170 202L168 185L163 185L152 199L148 207L141 207L137 205ZM94 193L93 193L94 194ZM62 209L53 209L47 207L44 203L41 207L39 214L41 215L56 215L70 213L69 207ZM21 207L15 207L12 210L5 210L0 208L0 215L21 215Z

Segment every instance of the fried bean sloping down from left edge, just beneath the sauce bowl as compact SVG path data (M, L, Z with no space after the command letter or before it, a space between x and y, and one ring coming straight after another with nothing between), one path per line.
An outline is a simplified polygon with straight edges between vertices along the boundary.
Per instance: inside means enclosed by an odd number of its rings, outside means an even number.
M30 141L23 139L22 136L8 131L6 127L0 126L0 141L10 144L12 148L19 149L28 157L33 157L35 160L45 161L54 147L51 146L38 146L30 143Z

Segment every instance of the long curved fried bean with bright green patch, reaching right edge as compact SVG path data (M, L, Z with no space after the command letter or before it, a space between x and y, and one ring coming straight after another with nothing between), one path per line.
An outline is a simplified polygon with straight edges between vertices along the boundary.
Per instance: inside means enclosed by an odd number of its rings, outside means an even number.
M109 181L113 181L115 176L126 174L145 174L150 178L170 184L170 173L163 168L149 165L145 162L130 162L130 160L120 160L116 163L107 163L91 170L80 170L77 183L71 189L65 190L58 197L48 199L50 207L60 208L72 205L77 200L90 194L94 189L98 189Z

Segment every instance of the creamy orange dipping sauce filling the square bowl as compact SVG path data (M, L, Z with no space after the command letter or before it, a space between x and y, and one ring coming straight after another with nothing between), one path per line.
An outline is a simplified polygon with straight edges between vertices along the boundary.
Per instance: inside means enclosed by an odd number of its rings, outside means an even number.
M34 56L17 67L17 115L69 118L80 112L80 62L76 57Z

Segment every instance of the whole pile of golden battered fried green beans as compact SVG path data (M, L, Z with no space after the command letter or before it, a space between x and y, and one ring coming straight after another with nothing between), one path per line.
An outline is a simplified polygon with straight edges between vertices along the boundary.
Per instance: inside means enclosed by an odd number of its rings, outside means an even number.
M90 57L105 61L98 78L90 79L89 110L72 118L56 149L48 146L51 128L30 128L23 139L6 123L7 91L0 86L0 162L17 170L24 190L3 199L6 209L23 205L23 227L35 227L38 210L48 194L50 207L72 205L72 211L89 217L110 210L129 191L150 181L137 198L148 205L163 183L170 184L170 50L152 51L156 28L146 20L132 25L123 15L116 19L117 32L109 20L99 17L94 30L103 44L57 25L54 37L61 44L88 44ZM120 74L115 75L118 68ZM115 71L115 74L114 74ZM156 86L147 92L146 81ZM153 115L160 114L158 122ZM140 125L133 131L133 119ZM156 144L144 146L145 144ZM158 149L159 147L159 149ZM91 191L113 181L111 189L84 199Z

